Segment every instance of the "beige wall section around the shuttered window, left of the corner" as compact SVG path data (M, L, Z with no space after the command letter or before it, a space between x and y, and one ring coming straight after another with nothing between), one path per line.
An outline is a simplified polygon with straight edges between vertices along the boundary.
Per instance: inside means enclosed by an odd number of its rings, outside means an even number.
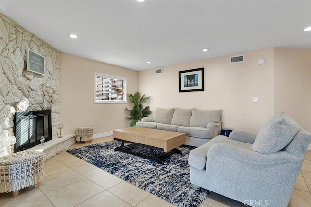
M94 72L128 78L128 93L138 91L138 72L126 68L61 54L61 121L63 132L94 127L94 134L128 127L127 104L94 104Z

